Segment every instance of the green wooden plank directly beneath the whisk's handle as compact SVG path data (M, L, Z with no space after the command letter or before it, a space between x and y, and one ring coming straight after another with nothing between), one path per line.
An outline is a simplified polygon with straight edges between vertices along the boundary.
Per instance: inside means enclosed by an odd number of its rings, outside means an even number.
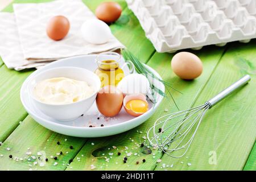
M243 169L256 138L255 42L232 44L193 106L204 104L246 74L252 77L249 85L208 111L185 155L187 158L164 155L157 170L164 169L163 163L174 164L172 170Z

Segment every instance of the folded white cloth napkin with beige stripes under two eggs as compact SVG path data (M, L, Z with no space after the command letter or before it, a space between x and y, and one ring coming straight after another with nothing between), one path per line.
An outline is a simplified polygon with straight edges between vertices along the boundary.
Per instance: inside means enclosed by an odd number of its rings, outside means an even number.
M8 68L40 67L64 57L124 48L114 36L101 45L82 38L82 23L96 17L81 0L22 3L13 7L14 14L0 13L0 55ZM64 15L71 23L68 35L60 41L51 40L46 34L47 22L55 15Z

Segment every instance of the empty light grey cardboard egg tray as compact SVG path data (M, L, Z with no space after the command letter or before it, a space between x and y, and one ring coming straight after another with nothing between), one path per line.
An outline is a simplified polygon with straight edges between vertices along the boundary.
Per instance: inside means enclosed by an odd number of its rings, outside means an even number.
M158 52L256 38L256 0L126 0Z

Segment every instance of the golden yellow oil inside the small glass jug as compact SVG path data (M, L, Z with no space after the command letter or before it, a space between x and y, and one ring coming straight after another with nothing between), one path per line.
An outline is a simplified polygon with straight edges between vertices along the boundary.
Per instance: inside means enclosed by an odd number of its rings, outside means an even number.
M118 61L115 60L99 61L95 73L100 77L101 87L108 85L117 86L119 81L125 77L123 70L119 68Z

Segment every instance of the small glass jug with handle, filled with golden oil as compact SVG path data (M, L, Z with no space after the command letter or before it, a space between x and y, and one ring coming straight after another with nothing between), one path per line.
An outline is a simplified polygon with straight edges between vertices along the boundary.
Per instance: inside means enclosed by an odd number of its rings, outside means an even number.
M117 84L125 77L125 73L122 68L119 67L121 60L121 56L116 52L103 52L97 55L96 62L98 68L95 73L100 77L101 87L113 85L117 86ZM134 66L130 64L130 72L134 71Z

